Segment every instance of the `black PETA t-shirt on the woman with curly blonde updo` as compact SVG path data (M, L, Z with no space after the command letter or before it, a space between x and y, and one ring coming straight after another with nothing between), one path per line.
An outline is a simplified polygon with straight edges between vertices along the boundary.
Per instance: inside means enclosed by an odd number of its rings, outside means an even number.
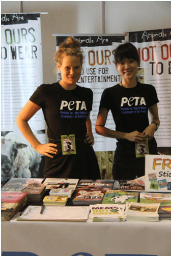
M30 100L42 108L49 138L60 139L68 132L75 138L85 138L86 119L93 104L91 89L77 86L69 91L59 82L42 84Z

